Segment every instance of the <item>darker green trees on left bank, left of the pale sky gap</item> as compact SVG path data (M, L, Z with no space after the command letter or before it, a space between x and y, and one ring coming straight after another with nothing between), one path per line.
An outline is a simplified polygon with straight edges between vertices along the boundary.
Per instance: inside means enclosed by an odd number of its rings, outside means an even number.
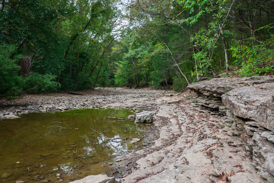
M92 88L95 82L108 85L109 73L101 71L108 68L104 57L110 53L117 34L115 22L121 18L117 3L5 1L0 7L0 45L17 46L1 49L0 93L18 94L35 85L39 86L29 92Z

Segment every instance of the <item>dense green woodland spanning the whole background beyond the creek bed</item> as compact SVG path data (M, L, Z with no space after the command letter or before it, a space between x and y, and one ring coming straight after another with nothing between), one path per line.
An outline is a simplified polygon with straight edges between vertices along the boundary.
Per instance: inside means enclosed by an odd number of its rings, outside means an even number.
M0 96L274 73L272 0L2 0Z

